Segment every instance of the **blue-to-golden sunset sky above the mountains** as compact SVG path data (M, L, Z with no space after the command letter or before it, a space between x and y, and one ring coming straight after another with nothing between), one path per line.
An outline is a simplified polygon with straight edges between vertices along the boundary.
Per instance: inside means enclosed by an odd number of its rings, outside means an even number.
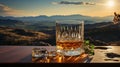
M0 0L0 16L80 14L104 17L120 13L120 0Z

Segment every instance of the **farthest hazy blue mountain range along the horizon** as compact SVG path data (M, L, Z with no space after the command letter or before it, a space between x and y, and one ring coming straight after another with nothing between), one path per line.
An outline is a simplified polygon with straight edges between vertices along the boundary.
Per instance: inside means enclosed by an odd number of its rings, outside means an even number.
M93 23L99 23L99 22L108 22L112 21L113 16L106 16L106 17L90 17L90 16L84 16L79 14L74 15L53 15L53 16L46 16L46 15L40 15L35 17L2 17L1 19L12 19L12 20L20 20L24 22L36 22L36 21L55 21L55 20L83 20L85 21L85 24L93 24Z

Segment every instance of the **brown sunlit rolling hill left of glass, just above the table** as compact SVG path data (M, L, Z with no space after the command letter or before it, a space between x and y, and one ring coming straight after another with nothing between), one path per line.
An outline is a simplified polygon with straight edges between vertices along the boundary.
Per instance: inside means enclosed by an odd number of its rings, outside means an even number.
M19 46L49 46L44 42L50 38L50 35L31 30L0 27L0 45L19 45Z

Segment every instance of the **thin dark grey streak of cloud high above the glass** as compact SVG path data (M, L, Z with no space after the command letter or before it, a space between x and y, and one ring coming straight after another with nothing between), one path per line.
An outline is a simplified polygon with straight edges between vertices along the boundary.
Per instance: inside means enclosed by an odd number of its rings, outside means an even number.
M70 2L70 1L52 2L52 4L95 5L95 3L92 2Z

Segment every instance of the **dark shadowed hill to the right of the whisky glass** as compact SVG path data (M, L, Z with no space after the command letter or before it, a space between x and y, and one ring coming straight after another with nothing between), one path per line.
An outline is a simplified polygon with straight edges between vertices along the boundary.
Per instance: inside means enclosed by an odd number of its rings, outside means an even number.
M89 39L95 45L120 45L120 24L103 22L88 26L85 29L85 39Z

